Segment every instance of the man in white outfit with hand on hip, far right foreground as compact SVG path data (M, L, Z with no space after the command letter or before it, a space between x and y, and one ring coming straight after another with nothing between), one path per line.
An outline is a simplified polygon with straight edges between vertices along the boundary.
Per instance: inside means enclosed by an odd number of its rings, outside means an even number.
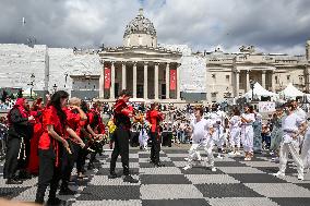
M279 171L274 175L285 175L287 158L288 154L290 154L297 165L298 179L303 180L303 163L299 156L298 136L305 132L307 124L302 118L296 114L291 102L287 104L286 112L287 117L284 119L282 124L283 138L279 148Z

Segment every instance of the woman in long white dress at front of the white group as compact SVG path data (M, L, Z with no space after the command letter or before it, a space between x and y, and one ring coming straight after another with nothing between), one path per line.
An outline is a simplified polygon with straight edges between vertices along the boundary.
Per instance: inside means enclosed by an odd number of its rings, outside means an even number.
M253 113L253 106L246 106L245 113L241 116L242 132L243 132L243 149L246 153L245 160L249 161L253 157L253 122L255 121L255 114Z

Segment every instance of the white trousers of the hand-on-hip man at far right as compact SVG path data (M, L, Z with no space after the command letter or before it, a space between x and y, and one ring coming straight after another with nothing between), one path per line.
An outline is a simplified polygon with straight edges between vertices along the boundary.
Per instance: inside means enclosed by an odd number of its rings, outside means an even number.
M303 174L303 163L299 156L299 144L297 141L290 143L281 143L279 147L279 171L285 173L288 154L290 153L295 163L297 165L297 171L299 174Z

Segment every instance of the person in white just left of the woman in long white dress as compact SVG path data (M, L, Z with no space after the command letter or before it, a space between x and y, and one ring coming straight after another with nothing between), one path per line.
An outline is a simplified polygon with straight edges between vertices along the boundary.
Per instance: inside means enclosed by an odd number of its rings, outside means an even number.
M241 126L240 111L238 108L235 108L234 116L229 120L229 130L230 130L229 141L233 148L233 152L229 153L230 156L240 155L240 130L241 130L240 126Z

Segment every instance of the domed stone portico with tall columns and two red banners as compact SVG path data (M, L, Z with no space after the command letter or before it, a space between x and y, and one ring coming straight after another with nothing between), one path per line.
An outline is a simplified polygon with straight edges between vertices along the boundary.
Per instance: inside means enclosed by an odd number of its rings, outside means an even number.
M182 54L157 47L156 29L142 9L127 25L123 45L104 48L98 54L100 99L114 100L126 88L133 98L180 100L178 68ZM107 80L110 85L105 85Z

